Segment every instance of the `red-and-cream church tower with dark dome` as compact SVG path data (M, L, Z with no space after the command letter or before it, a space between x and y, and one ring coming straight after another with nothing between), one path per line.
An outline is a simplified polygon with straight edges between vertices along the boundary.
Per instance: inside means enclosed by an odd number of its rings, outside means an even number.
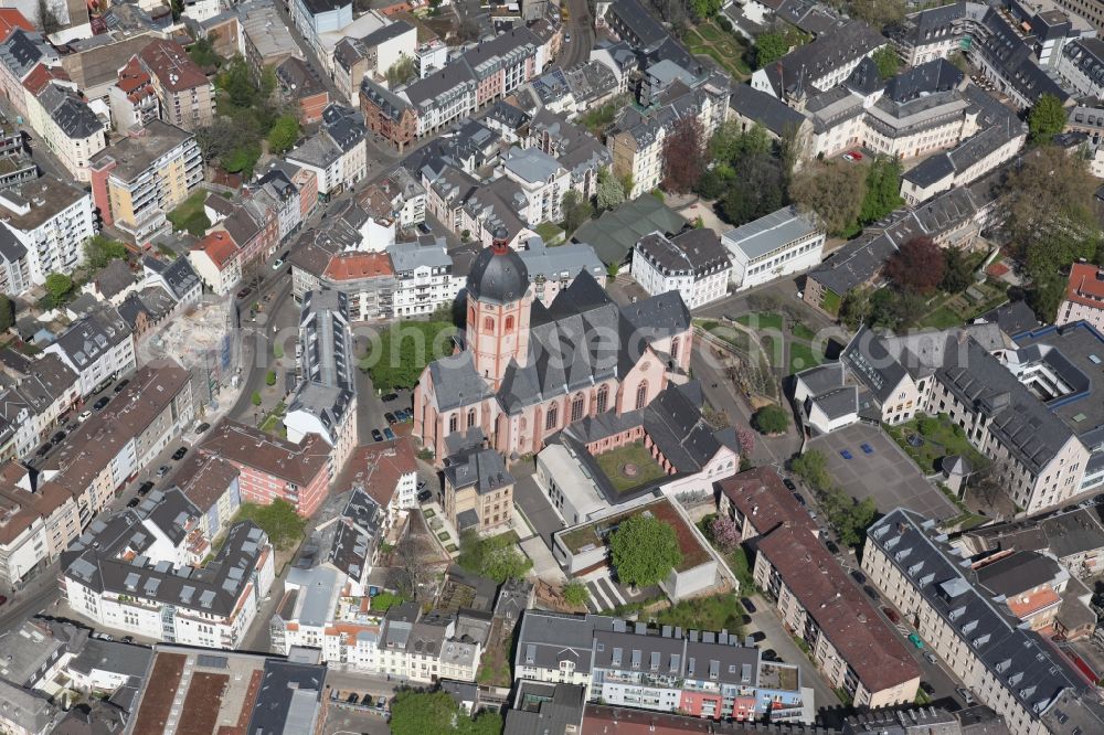
M466 340L476 370L497 390L510 360L524 365L529 356L529 270L507 244L505 228L495 232L468 274Z

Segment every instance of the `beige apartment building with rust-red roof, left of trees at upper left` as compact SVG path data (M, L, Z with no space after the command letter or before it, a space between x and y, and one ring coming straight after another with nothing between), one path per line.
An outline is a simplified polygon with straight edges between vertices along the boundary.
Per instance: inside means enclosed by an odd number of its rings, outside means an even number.
M184 130L198 130L214 119L214 84L183 46L158 39L138 53L153 82L161 119Z

